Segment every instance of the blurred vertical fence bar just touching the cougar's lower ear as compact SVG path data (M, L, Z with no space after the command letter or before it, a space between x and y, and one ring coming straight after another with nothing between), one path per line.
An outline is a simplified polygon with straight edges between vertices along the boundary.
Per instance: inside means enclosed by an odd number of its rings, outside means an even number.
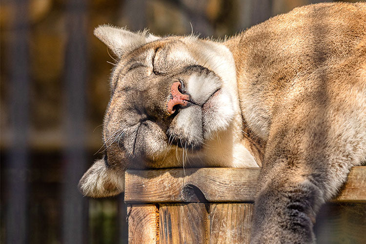
M65 136L62 241L87 243L88 203L77 184L86 167L86 1L68 0L65 63Z

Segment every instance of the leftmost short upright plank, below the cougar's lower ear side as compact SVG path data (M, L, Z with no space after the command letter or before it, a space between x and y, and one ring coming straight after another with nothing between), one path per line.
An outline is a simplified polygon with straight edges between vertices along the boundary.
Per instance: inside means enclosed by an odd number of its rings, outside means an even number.
M159 209L155 204L127 206L128 243L159 243Z

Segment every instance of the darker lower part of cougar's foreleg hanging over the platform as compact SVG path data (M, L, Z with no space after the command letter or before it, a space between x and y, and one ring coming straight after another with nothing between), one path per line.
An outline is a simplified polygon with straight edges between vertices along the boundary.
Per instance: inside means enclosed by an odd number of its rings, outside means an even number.
M323 202L307 180L268 184L255 202L251 243L315 243L313 223Z

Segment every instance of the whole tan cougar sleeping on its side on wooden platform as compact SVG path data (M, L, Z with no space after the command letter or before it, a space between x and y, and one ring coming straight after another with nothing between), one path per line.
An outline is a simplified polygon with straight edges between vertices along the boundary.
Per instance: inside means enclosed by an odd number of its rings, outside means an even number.
M315 242L319 207L366 158L365 3L296 8L223 42L95 35L119 61L85 195L121 193L127 168L262 166L251 242Z

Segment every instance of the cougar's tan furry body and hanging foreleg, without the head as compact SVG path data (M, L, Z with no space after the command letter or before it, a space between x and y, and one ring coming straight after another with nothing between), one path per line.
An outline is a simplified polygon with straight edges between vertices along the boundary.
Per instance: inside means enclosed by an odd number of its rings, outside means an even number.
M315 4L224 43L266 142L252 243L312 243L319 206L366 157L366 4Z

